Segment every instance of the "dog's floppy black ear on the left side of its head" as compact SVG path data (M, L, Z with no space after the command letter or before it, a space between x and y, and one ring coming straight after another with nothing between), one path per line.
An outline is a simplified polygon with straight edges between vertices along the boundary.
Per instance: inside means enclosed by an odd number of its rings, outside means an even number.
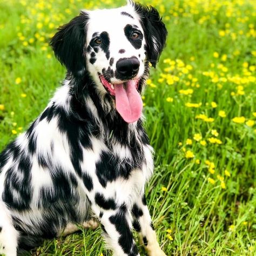
M60 26L50 42L56 58L74 76L81 76L85 71L84 45L88 19L88 15L81 12L68 24Z

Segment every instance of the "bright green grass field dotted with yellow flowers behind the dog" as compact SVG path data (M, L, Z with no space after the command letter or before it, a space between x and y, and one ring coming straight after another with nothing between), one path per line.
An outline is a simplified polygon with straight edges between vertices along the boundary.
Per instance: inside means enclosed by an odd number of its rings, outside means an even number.
M169 30L144 97L156 151L147 202L159 242L167 255L256 255L256 1L142 3L156 6ZM48 46L56 28L79 9L124 4L0 2L1 150L64 78ZM31 253L111 255L100 228L45 241Z

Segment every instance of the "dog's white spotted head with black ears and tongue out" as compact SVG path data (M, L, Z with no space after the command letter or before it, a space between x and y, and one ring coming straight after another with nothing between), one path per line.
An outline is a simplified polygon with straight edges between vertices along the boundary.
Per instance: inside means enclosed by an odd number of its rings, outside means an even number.
M140 92L149 62L156 67L166 36L156 9L131 2L117 9L81 11L60 26L51 46L73 77L89 73L98 95L132 123L142 113Z

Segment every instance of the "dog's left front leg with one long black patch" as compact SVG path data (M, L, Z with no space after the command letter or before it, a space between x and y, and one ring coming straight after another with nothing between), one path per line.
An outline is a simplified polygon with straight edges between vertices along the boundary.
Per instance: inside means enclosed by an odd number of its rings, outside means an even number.
M108 210L94 205L92 210L98 213L103 235L114 256L140 255L133 240L132 217L125 204Z

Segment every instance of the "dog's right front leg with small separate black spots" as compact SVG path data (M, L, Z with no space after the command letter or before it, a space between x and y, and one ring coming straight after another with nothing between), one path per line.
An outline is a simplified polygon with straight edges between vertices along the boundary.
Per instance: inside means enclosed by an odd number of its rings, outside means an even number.
M139 232L140 239L149 256L166 256L158 244L157 235L154 231L144 196L134 203L132 207L132 215L133 227Z

